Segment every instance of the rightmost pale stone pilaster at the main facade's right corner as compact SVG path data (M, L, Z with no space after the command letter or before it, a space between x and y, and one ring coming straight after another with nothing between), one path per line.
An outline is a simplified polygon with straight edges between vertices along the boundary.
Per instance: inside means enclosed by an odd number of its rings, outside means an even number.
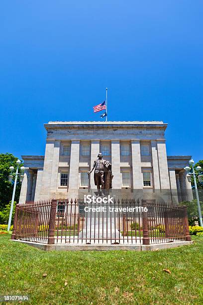
M165 140L157 141L157 152L158 152L161 190L170 190Z

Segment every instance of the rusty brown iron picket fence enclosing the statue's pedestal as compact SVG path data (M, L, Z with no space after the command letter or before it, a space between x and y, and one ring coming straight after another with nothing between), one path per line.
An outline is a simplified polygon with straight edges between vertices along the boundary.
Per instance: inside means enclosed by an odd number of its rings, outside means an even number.
M151 244L191 240L187 207L150 200L17 204L12 239L45 244Z

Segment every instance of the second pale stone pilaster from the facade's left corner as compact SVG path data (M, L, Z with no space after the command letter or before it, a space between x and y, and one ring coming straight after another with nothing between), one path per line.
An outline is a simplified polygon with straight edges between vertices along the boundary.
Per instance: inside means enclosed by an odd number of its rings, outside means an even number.
M51 185L50 185L50 193L52 198L56 197L56 192L58 187L59 156L60 156L60 141L55 141L54 151L53 151L52 171L51 171Z

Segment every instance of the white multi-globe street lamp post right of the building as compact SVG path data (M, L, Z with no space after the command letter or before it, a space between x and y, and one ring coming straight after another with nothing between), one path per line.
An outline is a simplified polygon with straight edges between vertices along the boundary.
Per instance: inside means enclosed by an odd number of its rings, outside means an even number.
M186 166L184 169L188 172L187 173L187 179L189 182L191 182L191 176L194 177L194 183L195 183L195 192L196 192L196 198L198 202L198 213L199 213L199 218L200 218L200 225L203 227L203 218L202 218L202 213L201 213L201 207L200 207L200 199L199 199L199 194L198 194L198 187L197 187L197 181L196 181L196 176L198 176L198 179L200 182L203 182L203 175L200 175L199 173L195 173L195 161L191 159L189 161L190 165L192 165L192 171L189 166ZM201 166L197 166L196 169L200 171L202 169Z

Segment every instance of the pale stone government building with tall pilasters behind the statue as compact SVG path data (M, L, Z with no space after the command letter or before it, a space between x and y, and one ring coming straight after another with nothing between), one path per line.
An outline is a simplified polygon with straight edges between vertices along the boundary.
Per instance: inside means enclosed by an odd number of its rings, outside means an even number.
M99 152L112 163L112 191L168 192L192 200L184 167L191 156L167 156L163 122L49 122L45 155L22 155L25 177L20 203L77 197L89 188L88 171ZM34 144L34 143L33 143ZM94 186L94 175L91 175ZM168 198L170 200L170 198Z

